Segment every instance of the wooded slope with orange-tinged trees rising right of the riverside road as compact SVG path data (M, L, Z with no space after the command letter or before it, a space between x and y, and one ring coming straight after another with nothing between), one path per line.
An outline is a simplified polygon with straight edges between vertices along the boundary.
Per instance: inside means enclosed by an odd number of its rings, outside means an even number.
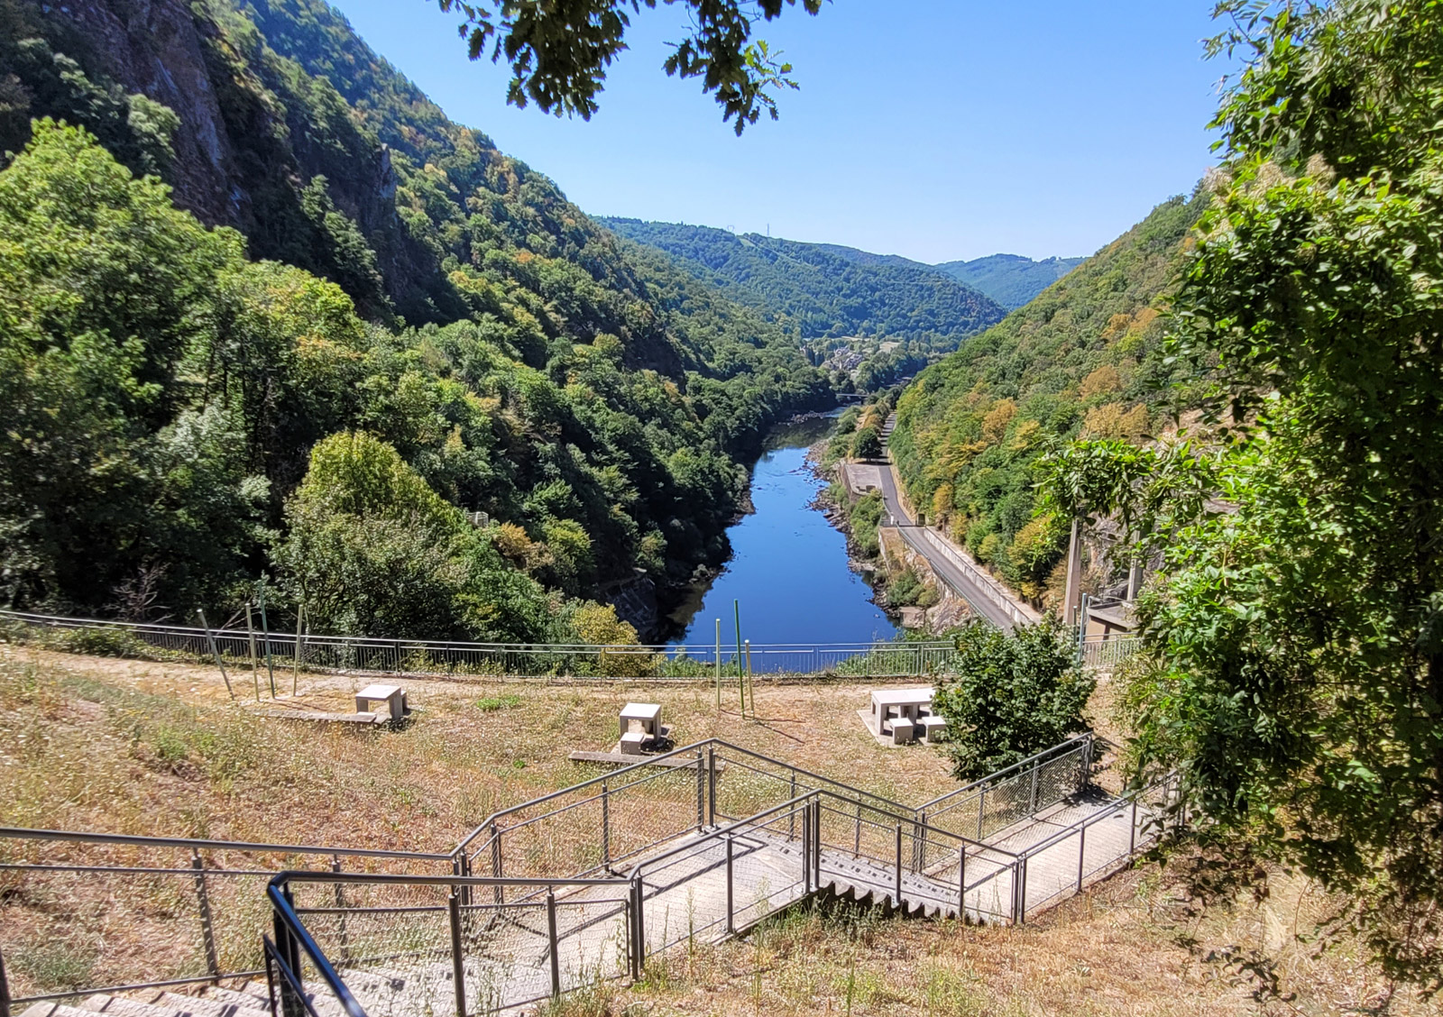
M892 454L912 502L1027 597L1066 542L1035 511L1049 439L1140 439L1169 368L1160 310L1203 196L1175 198L902 392Z

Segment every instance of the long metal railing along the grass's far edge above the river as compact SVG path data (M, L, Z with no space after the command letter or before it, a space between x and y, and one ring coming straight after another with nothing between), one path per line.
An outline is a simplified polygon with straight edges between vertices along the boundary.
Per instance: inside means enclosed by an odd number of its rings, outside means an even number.
M734 648L590 643L478 643L369 636L322 636L242 629L196 629L0 610L0 633L74 652L211 662L235 671L258 662L260 682L300 671L346 671L437 678L574 678L714 681L739 669L758 675L926 678L945 674L949 640L749 643ZM267 665L268 661L268 665ZM244 682L244 678L242 678Z

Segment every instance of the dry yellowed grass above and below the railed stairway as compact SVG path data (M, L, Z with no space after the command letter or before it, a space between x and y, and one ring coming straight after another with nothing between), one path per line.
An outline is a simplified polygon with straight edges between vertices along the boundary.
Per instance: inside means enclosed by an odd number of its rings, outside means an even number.
M348 708L361 684L303 675L293 705ZM707 688L405 685L408 727L352 730L232 705L214 668L0 646L0 824L443 851L489 812L595 773L566 753L608 747L628 698L662 703L681 741L716 734L900 801L955 786L938 752L883 749L861 728L870 685L759 687L756 724L734 701L717 714ZM1025 928L794 913L553 1013L1443 1013L1390 995L1349 943L1307 946L1326 910L1278 877L1261 903L1198 916L1144 866Z

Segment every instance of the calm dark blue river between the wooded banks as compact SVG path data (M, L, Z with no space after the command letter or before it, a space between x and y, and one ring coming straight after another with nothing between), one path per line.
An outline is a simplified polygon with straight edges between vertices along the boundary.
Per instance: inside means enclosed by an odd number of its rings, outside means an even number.
M727 531L732 560L697 599L672 615L687 626L674 645L710 646L722 619L723 648L736 645L732 602L742 609L742 636L753 643L867 642L896 629L872 603L872 587L847 568L847 540L810 508L824 486L812 477L807 447L831 420L781 428L752 472L756 512Z

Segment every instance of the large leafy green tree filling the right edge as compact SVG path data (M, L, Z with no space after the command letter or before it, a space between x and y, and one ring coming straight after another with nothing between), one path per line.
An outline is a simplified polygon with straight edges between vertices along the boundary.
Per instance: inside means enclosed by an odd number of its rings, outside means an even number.
M1173 340L1218 372L1221 447L1084 446L1055 486L1166 555L1139 772L1180 767L1199 840L1348 894L1439 990L1443 6L1224 10L1247 63Z

